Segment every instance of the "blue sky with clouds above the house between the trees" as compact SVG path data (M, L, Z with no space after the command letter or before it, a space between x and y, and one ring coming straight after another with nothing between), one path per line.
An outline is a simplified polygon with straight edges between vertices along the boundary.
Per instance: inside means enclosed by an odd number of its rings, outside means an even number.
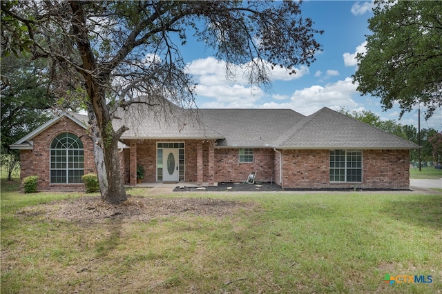
M380 99L361 97L352 83L356 71L356 52L364 50L365 35L369 35L367 19L372 17L372 1L305 1L301 5L303 17L311 18L317 30L324 30L316 40L323 52L309 68L298 67L297 74L288 76L285 70L275 70L271 92L250 88L238 75L236 81L225 79L222 61L201 43L184 46L183 56L189 72L198 81L199 108L291 108L303 115L311 115L327 106L334 110L371 110L382 119L394 119L401 124L417 127L417 110L407 112L399 121L399 108L383 112ZM421 128L442 130L442 112L425 121Z

